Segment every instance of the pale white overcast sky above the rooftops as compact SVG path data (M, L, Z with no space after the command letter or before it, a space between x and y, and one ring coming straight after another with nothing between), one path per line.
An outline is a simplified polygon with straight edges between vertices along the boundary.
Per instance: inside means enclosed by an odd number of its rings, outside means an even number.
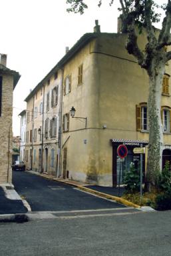
M164 1L160 1L164 2ZM86 0L85 14L67 13L66 0L0 0L0 53L7 54L7 67L21 78L13 93L13 135L20 135L19 113L26 109L30 90L49 73L85 33L93 32L98 19L101 32L116 33L118 0Z

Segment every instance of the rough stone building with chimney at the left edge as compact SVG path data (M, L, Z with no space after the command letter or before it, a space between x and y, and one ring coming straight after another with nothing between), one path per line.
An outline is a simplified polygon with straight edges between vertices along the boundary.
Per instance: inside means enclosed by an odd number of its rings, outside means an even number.
M12 115L13 89L20 75L6 67L7 55L1 54L0 61L0 183L11 183L12 164Z

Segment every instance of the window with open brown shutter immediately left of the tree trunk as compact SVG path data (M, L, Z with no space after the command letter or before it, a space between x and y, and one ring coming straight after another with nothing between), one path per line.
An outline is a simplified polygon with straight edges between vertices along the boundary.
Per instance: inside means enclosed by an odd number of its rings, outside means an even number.
M136 105L136 130L148 131L147 127L147 107L143 105Z

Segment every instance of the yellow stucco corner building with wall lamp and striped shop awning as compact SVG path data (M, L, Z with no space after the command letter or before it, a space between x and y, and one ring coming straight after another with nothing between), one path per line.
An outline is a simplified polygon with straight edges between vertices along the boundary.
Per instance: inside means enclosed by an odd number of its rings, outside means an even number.
M134 147L148 144L148 76L127 53L126 35L100 33L99 26L94 29L97 33L83 35L59 62L64 71L61 167L64 178L112 186L118 179L122 183L122 172L131 162L140 163ZM140 47L145 38L142 33ZM161 91L164 161L171 159L170 74L168 63ZM66 89L67 77L70 89ZM71 107L76 109L75 117L86 119L72 118ZM122 144L128 148L123 163L117 155Z

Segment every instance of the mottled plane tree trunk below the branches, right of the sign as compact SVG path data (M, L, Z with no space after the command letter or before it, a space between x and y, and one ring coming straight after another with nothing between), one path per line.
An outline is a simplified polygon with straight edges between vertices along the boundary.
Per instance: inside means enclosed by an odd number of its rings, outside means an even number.
M149 94L148 94L148 159L146 181L149 191L156 187L158 174L162 169L162 145L163 129L161 121L161 93L162 79L164 75L164 63L154 65L148 70Z

